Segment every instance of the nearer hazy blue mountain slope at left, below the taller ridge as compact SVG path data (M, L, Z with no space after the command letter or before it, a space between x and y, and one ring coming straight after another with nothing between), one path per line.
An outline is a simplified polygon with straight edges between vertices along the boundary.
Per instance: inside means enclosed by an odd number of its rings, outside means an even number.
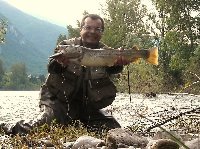
M47 57L11 24L8 25L6 42L0 45L0 59L7 69L15 63L25 63L28 73L46 73Z

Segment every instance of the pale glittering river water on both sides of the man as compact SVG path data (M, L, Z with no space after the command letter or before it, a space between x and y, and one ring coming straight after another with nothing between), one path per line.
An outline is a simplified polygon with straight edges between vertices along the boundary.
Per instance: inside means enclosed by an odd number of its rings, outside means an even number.
M39 91L0 91L0 123L34 119L39 113L38 98ZM159 122L198 107L200 95L158 94L156 97L147 97L118 93L113 104L104 110L112 114L122 127L127 127L137 123L152 125L152 122L137 113ZM197 120L200 123L200 116Z

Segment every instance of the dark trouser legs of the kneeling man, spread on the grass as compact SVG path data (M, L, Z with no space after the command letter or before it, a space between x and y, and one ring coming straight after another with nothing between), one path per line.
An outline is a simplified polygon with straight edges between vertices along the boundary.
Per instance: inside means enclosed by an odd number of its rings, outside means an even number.
M66 112L66 109L62 106L54 110L51 107L42 105L41 113L36 119L30 121L21 120L11 128L6 128L7 130L5 132L7 134L23 135L27 134L35 127L39 127L43 124L51 124L53 120L56 120L58 123L63 125L70 124L74 120L79 120L86 128L88 128L88 130L98 132L120 127L120 124L116 119L105 113L103 110L97 110L87 114L82 112L77 119L70 118L70 116L64 114L64 112Z

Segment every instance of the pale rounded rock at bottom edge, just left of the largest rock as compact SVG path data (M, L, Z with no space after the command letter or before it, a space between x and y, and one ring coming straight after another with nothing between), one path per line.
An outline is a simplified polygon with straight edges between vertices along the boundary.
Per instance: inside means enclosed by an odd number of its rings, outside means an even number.
M101 139L97 139L91 136L81 136L73 144L72 149L88 149L97 148L99 144L105 145L105 142Z

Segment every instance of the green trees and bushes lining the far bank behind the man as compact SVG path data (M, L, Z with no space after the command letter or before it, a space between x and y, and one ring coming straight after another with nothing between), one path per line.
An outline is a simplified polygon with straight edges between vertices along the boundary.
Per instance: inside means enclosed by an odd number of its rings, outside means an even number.
M106 0L106 5L102 7L105 20L103 43L112 48L131 48L136 45L139 49L159 49L158 66L141 60L125 66L123 72L113 78L118 91L199 94L200 2L150 2L151 8L142 3L142 0ZM87 13L83 12L83 15ZM79 21L77 25L80 26ZM6 22L1 20L0 26L0 39L3 42ZM79 36L79 28L67 25L67 29L68 36L60 35L57 42ZM0 61L1 90L35 90L45 80L44 76L40 77L31 82L30 75L26 74L25 64L15 64L5 71L3 62Z

